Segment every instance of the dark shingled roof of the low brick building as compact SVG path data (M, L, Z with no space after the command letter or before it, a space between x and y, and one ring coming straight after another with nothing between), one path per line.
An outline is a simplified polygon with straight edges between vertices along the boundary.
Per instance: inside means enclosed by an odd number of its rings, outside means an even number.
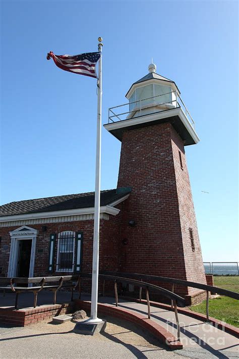
M107 204L123 198L128 193L129 191L117 193L116 189L101 191L100 206L106 206ZM0 217L90 208L94 207L94 200L95 192L21 200L0 206Z

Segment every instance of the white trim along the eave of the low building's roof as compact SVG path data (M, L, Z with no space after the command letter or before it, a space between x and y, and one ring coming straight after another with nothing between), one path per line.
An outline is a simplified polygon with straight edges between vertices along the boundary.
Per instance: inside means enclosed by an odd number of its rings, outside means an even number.
M122 198L121 198L122 200ZM102 206L100 207L100 213L107 213L109 215L116 216L120 210L112 206ZM41 213L29 213L23 215L12 215L0 217L0 222L10 222L10 221L22 221L30 220L37 218L52 218L52 217L64 217L64 216L76 216L76 215L89 215L94 214L94 207L90 208L81 208L76 210L65 210L65 211L54 211L54 212L41 212Z

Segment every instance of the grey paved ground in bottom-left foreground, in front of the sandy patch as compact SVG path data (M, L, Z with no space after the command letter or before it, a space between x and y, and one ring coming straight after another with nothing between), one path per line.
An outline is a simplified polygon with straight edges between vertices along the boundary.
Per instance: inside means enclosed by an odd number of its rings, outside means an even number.
M101 334L79 335L66 330L65 324L53 326L55 331L62 329L54 333L45 327L39 331L37 326L39 323L25 328L0 328L1 359L180 359L161 347L127 344L113 336L111 340L102 340L105 338L100 338Z

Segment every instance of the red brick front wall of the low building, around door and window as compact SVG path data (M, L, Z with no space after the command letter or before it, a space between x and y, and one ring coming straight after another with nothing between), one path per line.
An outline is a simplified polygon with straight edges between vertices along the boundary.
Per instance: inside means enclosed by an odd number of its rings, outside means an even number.
M118 204L121 208L121 204ZM100 270L117 270L119 263L119 236L120 236L121 213L117 216L110 216L109 220L100 220ZM32 225L31 228L38 230L36 240L36 255L34 276L64 275L64 272L48 272L49 260L49 238L52 233L63 231L83 232L83 253L82 253L82 271L91 273L92 253L93 253L93 227L94 221L75 221L67 223L50 223L44 226L47 231L42 231L43 224ZM21 226L2 227L0 236L2 237L0 246L0 276L7 276L9 266L9 255L11 246L11 237L9 232ZM75 251L76 255L76 251ZM57 257L57 235L54 247L54 263ZM55 266L54 266L55 267ZM69 273L69 272L68 272ZM85 281L87 282L87 281ZM84 289L84 287L83 287Z

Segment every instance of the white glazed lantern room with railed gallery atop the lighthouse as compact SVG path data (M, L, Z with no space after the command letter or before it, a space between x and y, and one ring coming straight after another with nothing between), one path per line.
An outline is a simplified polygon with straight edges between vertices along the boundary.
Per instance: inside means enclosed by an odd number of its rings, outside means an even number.
M198 143L194 120L175 82L157 74L155 64L148 71L131 85L126 104L109 108L106 130L121 141L125 130L169 122L186 146Z

